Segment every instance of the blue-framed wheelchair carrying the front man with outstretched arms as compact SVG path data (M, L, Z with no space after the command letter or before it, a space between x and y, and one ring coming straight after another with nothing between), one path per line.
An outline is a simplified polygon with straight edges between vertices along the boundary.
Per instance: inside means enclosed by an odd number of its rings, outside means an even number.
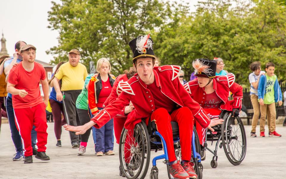
M178 123L171 122L175 155L177 159L181 159L181 145L179 138ZM156 161L164 159L163 163L167 165L167 173L169 179L171 179L169 172L169 159L167 146L164 138L156 130L156 124L154 121L150 122L146 126L142 120L136 124L133 131L123 128L120 141L119 141L119 175L126 177L127 179L143 179L145 178L149 163L150 163L150 151L157 152L164 149L164 154L156 156L152 160L152 169L150 172L150 179L158 179L158 168L156 167ZM198 134L193 130L192 135L192 159L194 170L198 175L198 178L202 178L203 165L200 159L200 144L198 141Z

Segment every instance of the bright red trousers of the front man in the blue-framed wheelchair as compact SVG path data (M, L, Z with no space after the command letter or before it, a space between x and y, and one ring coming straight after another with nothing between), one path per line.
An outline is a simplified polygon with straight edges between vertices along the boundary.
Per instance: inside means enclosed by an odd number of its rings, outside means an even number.
M151 121L155 121L157 130L163 136L167 144L169 161L177 160L174 151L173 133L171 121L175 121L179 126L182 160L191 160L191 141L193 134L192 112L187 107L176 109L170 115L166 109L156 109L151 115Z

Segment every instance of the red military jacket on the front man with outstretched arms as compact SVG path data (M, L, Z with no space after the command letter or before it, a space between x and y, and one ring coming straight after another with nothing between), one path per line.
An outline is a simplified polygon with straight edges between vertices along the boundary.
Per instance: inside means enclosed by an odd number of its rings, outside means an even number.
M154 67L155 83L161 88L161 92L165 96L177 104L177 107L188 107L193 113L194 118L202 127L206 128L210 123L210 119L203 108L189 96L188 92L180 83L178 78L180 70L181 67L177 65ZM131 101L135 107L134 112L131 112L132 115L130 115L132 117L128 115L126 121L129 124L133 124L128 127L129 129L132 129L132 126L140 122L142 118L149 117L152 112L155 111L153 95L137 73L128 81L120 82L119 88L122 92L118 98L91 119L91 121L96 123L94 127L100 128L105 125L111 118L117 115L129 101Z

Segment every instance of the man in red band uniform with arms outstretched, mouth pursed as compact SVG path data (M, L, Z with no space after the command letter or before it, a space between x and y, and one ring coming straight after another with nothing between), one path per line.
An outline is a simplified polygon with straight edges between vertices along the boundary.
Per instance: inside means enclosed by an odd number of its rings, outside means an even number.
M188 95L178 79L181 67L164 65L153 69L155 55L152 45L150 35L139 36L130 41L133 66L137 73L128 81L119 83L122 92L118 98L98 112L87 124L64 127L76 134L85 133L91 126L100 128L122 112L125 105L131 101L135 110L128 115L125 127L130 129L141 122L142 118L151 116L151 121L155 121L158 132L167 144L170 174L178 179L197 178L192 167L194 164L190 162L193 119L203 128L208 127L212 131L211 127L222 124L223 120L210 120L202 107ZM182 163L176 160L171 121L176 121L179 126Z

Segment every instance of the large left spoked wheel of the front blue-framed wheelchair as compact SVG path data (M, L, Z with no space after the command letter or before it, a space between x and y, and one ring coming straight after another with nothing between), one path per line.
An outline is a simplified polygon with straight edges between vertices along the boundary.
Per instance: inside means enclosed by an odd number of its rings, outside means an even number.
M150 137L142 121L133 131L123 128L119 141L119 161L127 179L143 179L150 163Z

